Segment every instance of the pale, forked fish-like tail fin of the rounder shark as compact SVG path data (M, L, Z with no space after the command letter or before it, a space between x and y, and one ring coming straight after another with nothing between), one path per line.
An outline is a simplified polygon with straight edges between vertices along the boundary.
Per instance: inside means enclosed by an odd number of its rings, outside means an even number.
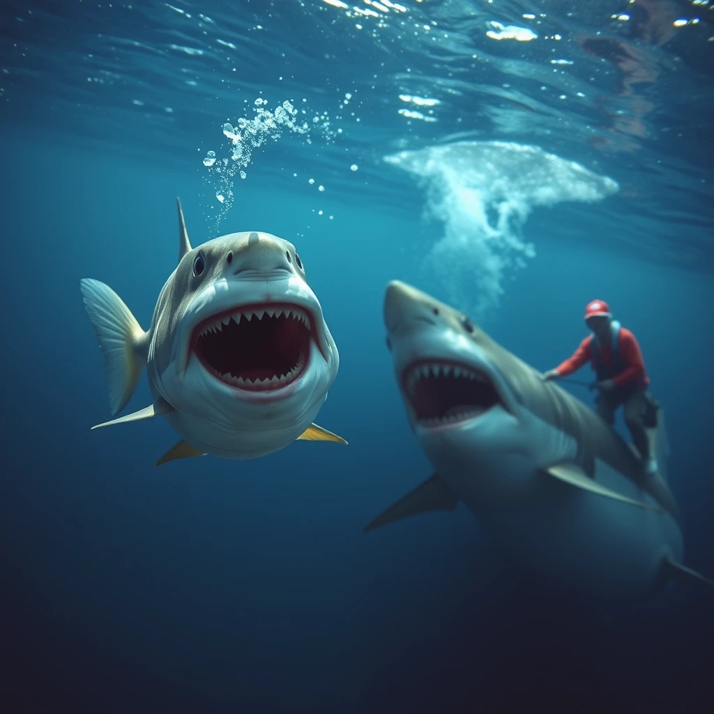
M146 364L146 333L121 298L104 283L82 278L81 291L109 381L111 415L131 398Z

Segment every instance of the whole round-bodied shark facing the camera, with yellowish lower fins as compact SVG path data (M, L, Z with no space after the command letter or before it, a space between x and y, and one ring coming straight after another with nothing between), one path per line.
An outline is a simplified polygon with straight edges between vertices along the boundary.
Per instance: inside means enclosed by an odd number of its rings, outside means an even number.
M156 466L181 458L258 458L298 439L345 439L314 423L339 353L293 243L256 231L191 247L181 201L178 265L144 330L121 298L80 281L104 355L111 416L146 367L153 402L97 424L164 418L180 437Z

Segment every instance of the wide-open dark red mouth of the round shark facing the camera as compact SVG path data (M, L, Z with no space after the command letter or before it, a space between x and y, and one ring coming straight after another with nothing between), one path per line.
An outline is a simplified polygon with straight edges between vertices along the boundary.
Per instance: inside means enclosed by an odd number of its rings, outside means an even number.
M241 306L193 331L193 351L213 376L250 391L296 381L310 357L310 316L296 305Z

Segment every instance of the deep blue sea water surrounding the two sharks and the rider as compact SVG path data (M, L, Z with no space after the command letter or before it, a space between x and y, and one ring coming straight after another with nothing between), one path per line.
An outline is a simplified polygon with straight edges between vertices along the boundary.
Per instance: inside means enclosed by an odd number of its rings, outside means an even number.
M431 473L384 344L387 281L469 311L543 370L597 296L638 336L685 563L714 576L709 6L399 6L0 10L0 710L711 710L711 598L678 587L593 612L526 578L463 506L362 533ZM535 36L487 34L509 25ZM223 159L241 168L223 125L258 98L314 126L268 131L246 178L222 182ZM400 151L416 153L384 160ZM109 402L79 280L148 326L176 196L194 246L296 243L341 356L316 421L348 446L155 469L175 441L161 421L89 431ZM149 401L142 378L126 411Z

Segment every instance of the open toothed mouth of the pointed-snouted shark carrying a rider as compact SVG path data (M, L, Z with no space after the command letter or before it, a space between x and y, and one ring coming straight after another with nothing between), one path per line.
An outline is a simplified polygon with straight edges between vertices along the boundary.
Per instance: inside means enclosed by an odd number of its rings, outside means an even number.
M422 426L465 421L503 405L486 373L458 362L413 362L403 373L403 387Z

